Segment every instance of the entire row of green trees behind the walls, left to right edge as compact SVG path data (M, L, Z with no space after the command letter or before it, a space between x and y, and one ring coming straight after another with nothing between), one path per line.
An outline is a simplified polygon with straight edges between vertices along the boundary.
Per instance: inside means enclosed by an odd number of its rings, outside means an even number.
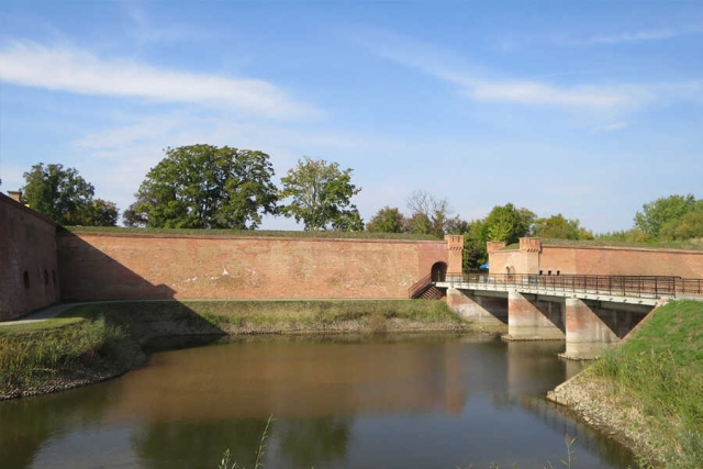
M126 226L255 230L263 216L283 215L305 231L368 231L465 237L465 268L488 260L487 242L516 243L523 236L618 242L687 241L703 237L703 199L669 196L645 203L626 231L594 235L579 220L562 214L538 217L512 203L494 206L487 216L467 221L451 216L446 199L417 190L408 198L406 214L383 206L365 225L352 202L361 188L353 169L303 157L277 188L270 157L258 150L190 145L165 149L165 157L140 185L124 211ZM32 209L63 225L115 226L113 202L94 199L94 187L76 169L37 164L24 174L23 199Z

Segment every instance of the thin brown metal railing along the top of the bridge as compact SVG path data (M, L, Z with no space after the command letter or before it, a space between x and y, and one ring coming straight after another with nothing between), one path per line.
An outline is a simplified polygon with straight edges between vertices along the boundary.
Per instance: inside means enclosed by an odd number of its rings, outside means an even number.
M454 281L458 278L454 277ZM539 289L559 292L599 293L635 298L703 294L703 279L674 276L588 276L535 273L464 273L464 282L487 288Z

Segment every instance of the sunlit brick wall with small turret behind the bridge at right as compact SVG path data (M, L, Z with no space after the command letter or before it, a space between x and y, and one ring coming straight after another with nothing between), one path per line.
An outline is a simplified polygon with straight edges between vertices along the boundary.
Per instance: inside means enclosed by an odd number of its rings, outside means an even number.
M703 250L558 246L521 239L520 250L490 253L491 273L680 276L703 278ZM514 270L512 270L514 268Z

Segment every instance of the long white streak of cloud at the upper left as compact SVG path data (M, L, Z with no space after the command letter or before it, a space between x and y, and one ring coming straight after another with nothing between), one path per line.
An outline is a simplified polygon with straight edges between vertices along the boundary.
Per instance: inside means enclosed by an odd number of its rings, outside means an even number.
M82 94L135 97L295 120L320 115L264 80L189 74L71 47L12 43L0 49L0 80Z

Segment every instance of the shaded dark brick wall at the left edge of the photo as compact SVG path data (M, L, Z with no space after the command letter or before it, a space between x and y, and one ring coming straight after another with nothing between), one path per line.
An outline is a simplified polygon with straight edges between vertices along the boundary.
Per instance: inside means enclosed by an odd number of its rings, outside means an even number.
M0 193L0 321L59 300L56 225Z

